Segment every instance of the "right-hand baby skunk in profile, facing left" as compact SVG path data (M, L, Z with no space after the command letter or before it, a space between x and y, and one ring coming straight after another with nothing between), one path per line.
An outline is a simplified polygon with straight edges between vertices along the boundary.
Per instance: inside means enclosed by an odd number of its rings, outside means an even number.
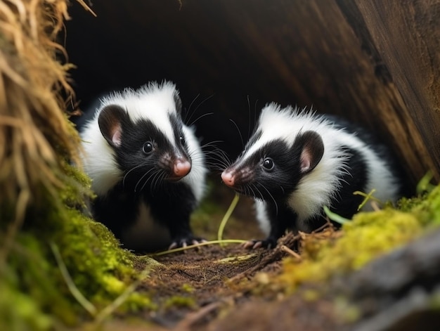
M245 150L221 174L227 186L254 197L257 220L268 235L246 247L274 247L287 228L313 231L325 223L324 206L351 219L363 201L356 190L374 188L381 201L399 197L387 150L350 127L305 108L265 106Z

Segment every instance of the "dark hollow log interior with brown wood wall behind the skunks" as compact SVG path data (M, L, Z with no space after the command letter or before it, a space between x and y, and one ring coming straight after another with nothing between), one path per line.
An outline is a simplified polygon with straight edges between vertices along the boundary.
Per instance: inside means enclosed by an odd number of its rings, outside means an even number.
M440 180L440 0L95 0L66 47L81 105L170 79L205 141L242 148L264 103L347 117L388 143L410 183ZM200 101L209 98L205 103ZM199 106L197 108L197 106ZM197 110L195 110L197 108ZM250 114L251 113L251 114Z

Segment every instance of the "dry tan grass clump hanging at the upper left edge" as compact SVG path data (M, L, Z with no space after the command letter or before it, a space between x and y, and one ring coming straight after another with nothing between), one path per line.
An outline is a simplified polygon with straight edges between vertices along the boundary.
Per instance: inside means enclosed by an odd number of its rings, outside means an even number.
M0 218L11 240L42 190L56 199L61 163L78 160L61 98L73 96L69 65L56 60L65 58L55 41L64 18L64 0L0 2Z

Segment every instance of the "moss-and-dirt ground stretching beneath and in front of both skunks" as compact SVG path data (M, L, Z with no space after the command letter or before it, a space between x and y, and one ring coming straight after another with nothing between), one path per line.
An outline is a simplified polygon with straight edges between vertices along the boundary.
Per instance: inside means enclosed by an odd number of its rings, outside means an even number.
M86 179L77 179L88 185ZM60 190L65 204L75 205L73 192L76 189ZM216 239L232 197L225 188L212 190L193 215L194 231ZM222 325L235 309L252 311L252 302L257 307L261 300L285 298L323 309L328 303L320 304L319 298L330 279L361 269L440 222L437 186L423 197L402 200L397 208L357 214L338 231L329 223L318 233L287 235L272 250L216 244L141 256L120 248L103 225L79 212L78 204L65 208L46 203L50 212L29 212L32 222L18 233L7 263L1 265L0 320L8 330L93 330L98 325L136 330L145 323L159 329L204 329ZM41 217L57 221L40 228ZM48 231L47 226L53 228ZM259 237L250 200L242 198L224 238ZM299 252L292 252L293 247ZM335 311L326 308L325 323L346 323Z

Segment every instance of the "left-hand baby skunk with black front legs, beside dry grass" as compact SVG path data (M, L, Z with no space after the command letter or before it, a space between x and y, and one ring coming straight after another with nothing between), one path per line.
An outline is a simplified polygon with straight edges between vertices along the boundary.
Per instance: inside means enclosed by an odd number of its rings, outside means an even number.
M190 214L204 193L207 170L181 108L174 84L150 83L102 98L79 130L84 170L97 195L93 217L129 249L201 240L190 230Z

